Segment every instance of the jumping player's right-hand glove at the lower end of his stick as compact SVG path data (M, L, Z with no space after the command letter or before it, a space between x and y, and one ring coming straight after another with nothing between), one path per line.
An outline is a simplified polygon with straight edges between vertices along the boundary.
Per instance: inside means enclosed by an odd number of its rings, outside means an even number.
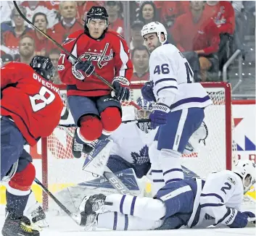
M112 91L112 97L116 96L119 101L128 101L130 98L130 88L124 87L130 85L130 82L122 76L114 77L112 86L115 91Z

